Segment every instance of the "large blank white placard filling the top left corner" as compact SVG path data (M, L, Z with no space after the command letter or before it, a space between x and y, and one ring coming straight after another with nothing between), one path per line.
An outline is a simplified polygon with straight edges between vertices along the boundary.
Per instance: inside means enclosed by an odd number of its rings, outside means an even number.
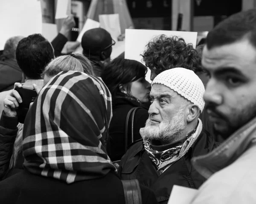
M0 6L0 50L13 36L42 33L42 12L39 0L8 0Z

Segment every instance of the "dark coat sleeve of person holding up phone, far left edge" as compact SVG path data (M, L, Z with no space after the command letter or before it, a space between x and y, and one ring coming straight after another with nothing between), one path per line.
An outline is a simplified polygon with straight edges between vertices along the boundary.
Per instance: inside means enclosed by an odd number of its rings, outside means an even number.
M7 117L4 112L0 119L0 180L9 170L12 149L17 136L17 117Z

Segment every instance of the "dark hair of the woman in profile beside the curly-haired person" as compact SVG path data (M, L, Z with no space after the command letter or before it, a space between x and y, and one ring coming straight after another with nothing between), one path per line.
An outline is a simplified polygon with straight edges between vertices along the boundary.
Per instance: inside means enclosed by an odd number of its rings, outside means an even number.
M108 86L112 97L115 98L116 94L120 92L119 85L128 85L129 93L131 82L145 77L147 71L147 67L136 60L116 58L105 67L102 80Z

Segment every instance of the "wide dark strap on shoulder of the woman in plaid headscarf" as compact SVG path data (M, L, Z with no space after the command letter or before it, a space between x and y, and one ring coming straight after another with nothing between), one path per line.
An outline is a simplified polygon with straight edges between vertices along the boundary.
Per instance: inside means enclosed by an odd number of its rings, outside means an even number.
M125 204L142 204L140 184L137 179L122 181Z

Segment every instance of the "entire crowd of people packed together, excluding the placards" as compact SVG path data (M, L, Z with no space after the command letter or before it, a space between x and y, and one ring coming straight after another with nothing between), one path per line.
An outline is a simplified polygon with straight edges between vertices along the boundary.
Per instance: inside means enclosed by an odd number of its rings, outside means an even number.
M67 17L51 43L6 41L1 204L167 204L174 185L198 189L190 204L256 203L256 10L223 20L196 48L157 36L145 65L111 59L102 28L84 33L82 55L61 53L74 24ZM37 93L25 115L17 88Z

